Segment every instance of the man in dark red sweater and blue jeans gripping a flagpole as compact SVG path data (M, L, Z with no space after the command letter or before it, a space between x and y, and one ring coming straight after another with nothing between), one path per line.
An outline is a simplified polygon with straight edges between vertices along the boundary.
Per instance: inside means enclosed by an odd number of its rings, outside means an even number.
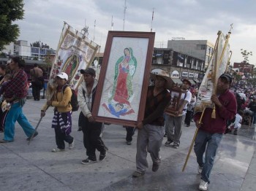
M216 118L211 118L213 111L211 108L206 108L201 123L199 123L201 112L195 114L194 117L196 126L199 128L194 147L198 173L201 174L199 190L207 190L214 157L222 140L222 135L225 133L227 120L232 120L236 116L236 98L228 90L232 80L230 74L222 74L217 82L216 95L211 95L211 101L216 108ZM203 157L204 152L206 152L205 157Z

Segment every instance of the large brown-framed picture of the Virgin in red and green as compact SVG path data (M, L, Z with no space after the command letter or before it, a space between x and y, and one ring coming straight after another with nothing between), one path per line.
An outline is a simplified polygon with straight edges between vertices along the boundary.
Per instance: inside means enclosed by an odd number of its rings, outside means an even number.
M154 33L109 31L92 116L98 122L135 126L143 120Z

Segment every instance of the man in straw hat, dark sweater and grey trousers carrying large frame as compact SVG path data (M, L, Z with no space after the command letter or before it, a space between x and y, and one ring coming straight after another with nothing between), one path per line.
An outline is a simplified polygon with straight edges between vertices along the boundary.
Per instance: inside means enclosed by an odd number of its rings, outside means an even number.
M152 72L154 72L151 73L154 86L148 87L144 119L137 124L137 170L132 174L135 178L143 176L148 168L147 152L150 153L153 161L152 171L156 172L161 163L159 150L164 137L163 114L170 102L170 93L166 89L171 87L172 81L166 71L157 69Z

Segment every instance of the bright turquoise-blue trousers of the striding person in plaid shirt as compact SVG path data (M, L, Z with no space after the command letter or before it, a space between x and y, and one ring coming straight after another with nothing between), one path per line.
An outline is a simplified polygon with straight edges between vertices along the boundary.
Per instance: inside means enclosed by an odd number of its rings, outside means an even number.
M10 111L7 114L4 125L4 140L13 141L15 135L15 122L18 121L21 128L23 128L26 136L32 136L34 128L26 119L26 116L22 112L22 106L20 103L12 104Z

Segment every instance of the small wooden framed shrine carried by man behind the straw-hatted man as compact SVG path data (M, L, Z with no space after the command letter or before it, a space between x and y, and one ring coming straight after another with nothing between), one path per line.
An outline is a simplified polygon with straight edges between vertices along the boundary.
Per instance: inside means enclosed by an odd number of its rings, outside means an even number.
M181 94L186 92L187 91L185 90L181 90L180 86L173 86L173 88L170 90L170 105L165 109L166 114L170 114L176 117L182 115L176 115L176 112L178 112L179 106L182 104Z

